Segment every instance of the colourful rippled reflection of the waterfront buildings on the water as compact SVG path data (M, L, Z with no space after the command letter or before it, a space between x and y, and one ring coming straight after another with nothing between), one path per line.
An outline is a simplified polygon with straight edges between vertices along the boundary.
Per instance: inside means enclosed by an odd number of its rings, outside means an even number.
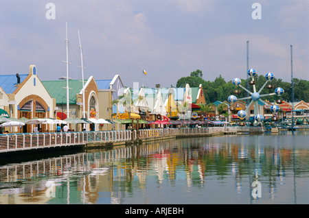
M122 204L148 183L203 189L214 179L234 182L238 197L249 188L252 202L261 194L253 183L261 184L262 195L274 199L287 171L295 173L295 154L308 169L308 149L264 145L259 136L251 144L186 138L89 150L1 166L0 204Z

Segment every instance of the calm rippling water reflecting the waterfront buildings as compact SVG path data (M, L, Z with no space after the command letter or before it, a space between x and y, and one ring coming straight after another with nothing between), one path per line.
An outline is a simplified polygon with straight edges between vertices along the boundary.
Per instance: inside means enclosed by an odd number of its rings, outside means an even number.
M308 204L308 141L265 132L11 161L0 204Z

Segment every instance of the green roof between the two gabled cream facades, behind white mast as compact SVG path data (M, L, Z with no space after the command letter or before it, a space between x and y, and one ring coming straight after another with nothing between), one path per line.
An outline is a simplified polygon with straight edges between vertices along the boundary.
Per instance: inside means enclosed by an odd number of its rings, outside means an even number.
M56 99L56 104L67 104L67 80L42 81L49 95ZM82 90L80 80L69 80L69 104L76 104L76 94Z

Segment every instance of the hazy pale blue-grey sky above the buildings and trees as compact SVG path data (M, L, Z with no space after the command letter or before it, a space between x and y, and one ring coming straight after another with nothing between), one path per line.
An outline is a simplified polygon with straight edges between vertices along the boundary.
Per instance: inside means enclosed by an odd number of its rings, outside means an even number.
M0 0L0 74L35 64L40 80L66 76L67 23L73 80L78 31L85 78L170 87L200 69L207 81L246 79L248 45L249 68L290 82L293 45L293 77L309 80L308 11L307 0Z

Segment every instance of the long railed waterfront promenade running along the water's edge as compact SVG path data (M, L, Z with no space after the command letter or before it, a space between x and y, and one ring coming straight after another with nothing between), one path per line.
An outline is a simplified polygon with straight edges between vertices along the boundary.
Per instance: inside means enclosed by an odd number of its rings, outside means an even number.
M50 132L1 134L0 154L55 147L107 147L146 141L181 138L188 136L212 136L216 134L262 133L259 127L211 127L211 128L165 128L147 130L117 130L91 132Z

